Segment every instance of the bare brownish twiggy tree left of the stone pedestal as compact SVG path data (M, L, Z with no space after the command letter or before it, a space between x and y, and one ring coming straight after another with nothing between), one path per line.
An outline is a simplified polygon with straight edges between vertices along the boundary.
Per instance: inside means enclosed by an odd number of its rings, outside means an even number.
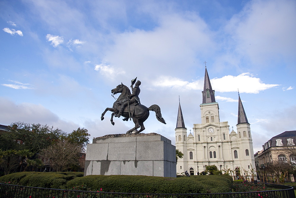
M67 170L79 163L81 145L69 140L58 140L40 151L39 157L44 159L57 171Z

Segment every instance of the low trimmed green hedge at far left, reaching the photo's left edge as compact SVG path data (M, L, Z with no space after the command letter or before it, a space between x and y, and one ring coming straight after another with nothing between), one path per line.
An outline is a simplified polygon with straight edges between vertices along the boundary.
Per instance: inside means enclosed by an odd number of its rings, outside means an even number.
M77 177L83 177L79 172L19 172L0 177L0 183L31 186L39 188L63 189L65 184Z

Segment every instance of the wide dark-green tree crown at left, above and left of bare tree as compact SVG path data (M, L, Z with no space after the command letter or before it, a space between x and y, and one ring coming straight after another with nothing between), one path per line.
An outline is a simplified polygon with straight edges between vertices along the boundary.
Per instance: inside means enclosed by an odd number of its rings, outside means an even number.
M10 124L9 130L16 139L23 141L24 144L20 145L22 149L29 149L34 154L66 135L65 132L58 128L54 129L53 126L23 122Z

